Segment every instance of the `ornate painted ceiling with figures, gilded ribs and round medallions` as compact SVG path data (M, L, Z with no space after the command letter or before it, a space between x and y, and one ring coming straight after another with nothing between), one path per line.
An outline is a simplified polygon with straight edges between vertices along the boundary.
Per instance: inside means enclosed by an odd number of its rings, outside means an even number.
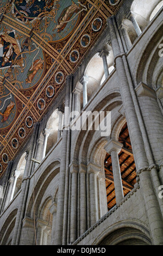
M123 0L1 0L0 177Z

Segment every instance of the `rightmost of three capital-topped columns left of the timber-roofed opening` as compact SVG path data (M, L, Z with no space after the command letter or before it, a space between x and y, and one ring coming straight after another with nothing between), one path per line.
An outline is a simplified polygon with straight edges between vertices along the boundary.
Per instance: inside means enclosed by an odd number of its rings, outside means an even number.
M98 192L97 192L97 175L101 168L95 164L89 163L87 172L89 174L90 187L90 224L91 226L98 221Z

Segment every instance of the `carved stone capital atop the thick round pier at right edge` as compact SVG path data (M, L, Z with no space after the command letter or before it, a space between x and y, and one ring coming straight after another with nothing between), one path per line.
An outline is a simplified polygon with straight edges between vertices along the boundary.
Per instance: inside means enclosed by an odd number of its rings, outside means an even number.
M138 86L136 86L135 92L138 97L148 96L148 97L153 97L154 99L156 99L155 91L152 88L148 87L147 84L145 84L143 82L140 82L138 84Z

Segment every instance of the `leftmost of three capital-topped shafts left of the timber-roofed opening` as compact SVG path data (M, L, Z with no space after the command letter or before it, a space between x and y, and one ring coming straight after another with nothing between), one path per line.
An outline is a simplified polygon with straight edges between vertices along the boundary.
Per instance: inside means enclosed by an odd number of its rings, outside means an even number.
M74 242L77 239L77 188L78 188L78 166L75 163L70 164L70 173L72 180L71 192L71 229L70 241Z

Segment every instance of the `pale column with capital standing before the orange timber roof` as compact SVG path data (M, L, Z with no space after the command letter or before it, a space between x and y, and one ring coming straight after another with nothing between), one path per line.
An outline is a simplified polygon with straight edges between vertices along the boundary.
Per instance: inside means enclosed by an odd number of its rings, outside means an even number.
M116 195L116 204L120 204L123 199L123 187L122 187L122 178L121 178L121 170L120 170L120 162L118 159L118 154L120 153L123 144L120 142L114 141L111 139L108 144L105 146L105 150L108 154L111 155L112 162L112 173L114 178L114 186L115 186L115 195Z

